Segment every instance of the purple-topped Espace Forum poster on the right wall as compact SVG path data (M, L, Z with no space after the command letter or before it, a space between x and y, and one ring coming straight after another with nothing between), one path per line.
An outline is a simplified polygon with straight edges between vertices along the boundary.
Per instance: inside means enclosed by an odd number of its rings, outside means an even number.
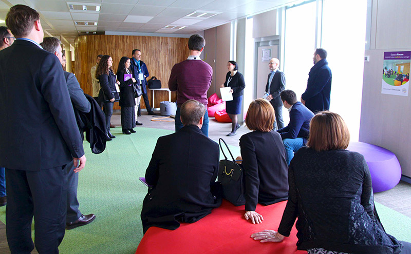
M408 96L411 51L384 52L381 93Z

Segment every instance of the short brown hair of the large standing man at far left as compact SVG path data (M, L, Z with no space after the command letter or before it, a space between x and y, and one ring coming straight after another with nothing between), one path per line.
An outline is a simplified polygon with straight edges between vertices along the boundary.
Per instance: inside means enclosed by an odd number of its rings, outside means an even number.
M40 15L26 5L15 5L6 15L6 25L16 38L27 36Z

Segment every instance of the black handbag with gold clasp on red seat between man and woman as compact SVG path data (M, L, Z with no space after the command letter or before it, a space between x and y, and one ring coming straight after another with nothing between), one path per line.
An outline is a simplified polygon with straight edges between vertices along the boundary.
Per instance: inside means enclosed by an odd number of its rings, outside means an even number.
M222 150L221 141L226 145L233 159L232 161L227 159L226 154ZM223 139L219 139L218 143L220 144L224 158L226 158L220 161L218 169L218 181L221 182L222 185L222 197L235 206L244 205L246 204L246 198L244 197L245 182L242 165L235 162L233 154Z

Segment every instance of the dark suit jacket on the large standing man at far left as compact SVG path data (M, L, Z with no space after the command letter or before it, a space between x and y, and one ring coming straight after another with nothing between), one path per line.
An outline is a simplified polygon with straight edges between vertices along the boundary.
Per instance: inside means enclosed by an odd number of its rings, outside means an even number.
M35 171L82 157L83 142L58 58L32 42L16 40L0 51L0 66L0 165Z

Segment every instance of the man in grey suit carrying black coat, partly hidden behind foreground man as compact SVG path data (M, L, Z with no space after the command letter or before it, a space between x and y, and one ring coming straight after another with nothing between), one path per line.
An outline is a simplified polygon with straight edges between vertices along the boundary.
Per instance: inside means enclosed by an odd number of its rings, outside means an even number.
M44 50L53 53L61 64L63 64L63 52L61 48L61 41L56 37L45 37L40 44ZM90 112L91 104L84 95L79 82L73 73L64 71L66 78L68 93L70 94L71 103L74 108L83 113ZM83 133L80 133L81 135ZM67 164L67 216L66 229L72 229L79 226L87 225L96 219L95 214L83 215L79 210L79 201L77 199L77 186L79 184L79 174L74 173L73 162Z

